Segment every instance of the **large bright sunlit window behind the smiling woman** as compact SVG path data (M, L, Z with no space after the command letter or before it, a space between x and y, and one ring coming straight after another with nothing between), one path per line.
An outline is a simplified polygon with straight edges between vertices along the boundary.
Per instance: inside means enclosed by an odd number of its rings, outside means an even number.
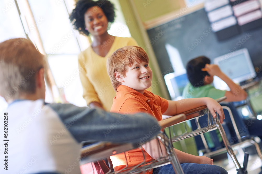
M124 20L118 1L111 0L116 7L116 19L108 33L119 37L130 37L128 21ZM39 51L47 56L49 75L54 86L48 88L46 101L69 102L77 106L86 106L82 97L83 88L78 75L78 54L89 45L88 38L80 35L70 24L69 13L74 9L75 0L17 0L18 9L13 0L0 3L0 41L24 37L26 34ZM26 33L26 34L25 34ZM39 46L41 45L41 46ZM52 92L51 92L52 89ZM7 106L0 98L0 112Z

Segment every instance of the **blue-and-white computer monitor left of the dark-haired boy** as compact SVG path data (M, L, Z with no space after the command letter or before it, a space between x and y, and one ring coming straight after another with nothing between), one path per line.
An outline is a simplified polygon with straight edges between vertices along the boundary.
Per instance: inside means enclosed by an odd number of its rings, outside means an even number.
M187 78L187 73L169 73L164 76L164 79L166 81L167 89L170 93L171 99L181 99L183 89L185 85L187 85L187 83L189 82Z

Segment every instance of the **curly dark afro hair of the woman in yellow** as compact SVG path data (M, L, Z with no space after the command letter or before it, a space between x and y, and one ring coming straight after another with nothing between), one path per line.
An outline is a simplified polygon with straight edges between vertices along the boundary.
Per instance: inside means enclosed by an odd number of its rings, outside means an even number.
M89 32L85 30L85 20L84 14L85 12L94 6L100 7L106 15L107 21L110 23L114 22L114 18L116 16L114 12L114 4L107 0L99 0L99 1L92 1L92 0L79 0L76 5L75 9L69 16L69 19L74 26L81 34L89 35Z

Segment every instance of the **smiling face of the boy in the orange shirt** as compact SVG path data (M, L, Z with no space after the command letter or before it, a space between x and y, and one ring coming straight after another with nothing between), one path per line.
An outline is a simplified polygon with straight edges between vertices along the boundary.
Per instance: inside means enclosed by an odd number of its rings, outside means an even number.
M128 86L144 94L144 90L152 85L152 70L147 62L134 62L128 68L125 77L122 77L122 85Z

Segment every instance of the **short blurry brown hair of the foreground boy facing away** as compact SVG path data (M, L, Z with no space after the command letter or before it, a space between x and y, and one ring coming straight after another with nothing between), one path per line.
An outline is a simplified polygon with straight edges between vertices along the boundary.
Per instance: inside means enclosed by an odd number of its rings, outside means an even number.
M0 95L18 99L36 91L36 74L43 68L43 55L25 38L0 43Z

